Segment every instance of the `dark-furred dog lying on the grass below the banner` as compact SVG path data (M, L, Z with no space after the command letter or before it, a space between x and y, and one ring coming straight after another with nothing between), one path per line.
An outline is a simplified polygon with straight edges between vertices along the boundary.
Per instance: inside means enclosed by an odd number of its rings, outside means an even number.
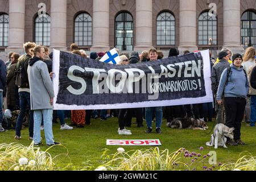
M193 129L193 130L206 130L207 124L200 119L195 118L176 118L170 123L167 123L167 127L172 129Z

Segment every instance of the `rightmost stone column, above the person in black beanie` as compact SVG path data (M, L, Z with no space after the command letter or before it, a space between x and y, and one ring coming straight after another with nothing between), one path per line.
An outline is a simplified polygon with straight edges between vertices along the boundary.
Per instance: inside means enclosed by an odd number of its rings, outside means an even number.
M224 0L223 11L223 47L241 52L240 0Z

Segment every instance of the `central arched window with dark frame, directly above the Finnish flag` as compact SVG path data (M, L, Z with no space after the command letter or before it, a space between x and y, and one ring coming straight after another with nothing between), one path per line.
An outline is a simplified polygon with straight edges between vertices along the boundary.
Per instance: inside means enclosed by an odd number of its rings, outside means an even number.
M129 13L120 13L115 18L115 47L133 50L133 17Z

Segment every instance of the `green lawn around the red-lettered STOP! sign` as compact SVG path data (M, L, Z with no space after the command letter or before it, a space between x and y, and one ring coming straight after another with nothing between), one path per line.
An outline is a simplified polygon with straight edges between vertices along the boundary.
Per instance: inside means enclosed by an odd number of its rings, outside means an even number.
M134 118L133 118L134 121ZM69 119L65 122L70 123ZM201 152L203 155L208 154L209 151L216 151L217 163L235 163L240 157L241 152L248 151L252 156L256 156L256 138L255 127L246 126L242 123L241 138L247 143L246 146L228 146L228 148L218 148L215 150L213 147L207 147L206 142L210 140L209 131L212 129L213 122L208 122L209 129L207 131L202 130L188 130L188 129L170 129L166 127L166 119L163 120L162 134L153 133L146 134L146 123L143 122L144 127L138 128L137 125L132 124L131 132L133 135L125 136L118 135L118 121L117 118L108 119L108 121L100 121L100 119L91 119L92 125L85 126L85 128L74 128L73 130L60 130L60 124L53 124L53 135L56 142L60 142L65 147L56 146L52 147L48 152L52 156L60 155L56 158L57 164L60 166L67 166L67 164L73 164L75 169L83 168L84 163L88 162L92 164L92 169L100 166L101 155L104 148L108 148L110 154L114 154L119 146L106 146L106 139L160 139L162 146L159 146L160 150L168 149L170 152L174 152L181 147L186 148L189 151ZM155 126L155 123L153 123ZM31 140L28 140L28 128L22 129L22 139L15 140L15 131L13 129L0 133L0 143L13 143L17 142L24 146L29 146ZM40 146L41 150L46 151L47 146L42 132L43 144ZM204 150L200 151L199 147L203 146ZM138 146L121 146L125 148L125 151L137 150L142 148L151 147L138 147Z

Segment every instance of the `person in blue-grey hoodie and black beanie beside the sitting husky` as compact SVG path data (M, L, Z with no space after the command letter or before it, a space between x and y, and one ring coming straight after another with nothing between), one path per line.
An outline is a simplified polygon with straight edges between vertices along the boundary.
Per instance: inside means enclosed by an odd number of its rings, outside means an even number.
M221 74L220 84L217 90L217 102L222 104L222 94L224 93L224 106L226 110L226 126L234 127L234 140L227 139L226 144L237 146L245 145L241 140L241 122L245 111L246 96L249 92L249 81L246 72L241 65L242 55L233 55L233 63L230 65L230 72L226 68Z

